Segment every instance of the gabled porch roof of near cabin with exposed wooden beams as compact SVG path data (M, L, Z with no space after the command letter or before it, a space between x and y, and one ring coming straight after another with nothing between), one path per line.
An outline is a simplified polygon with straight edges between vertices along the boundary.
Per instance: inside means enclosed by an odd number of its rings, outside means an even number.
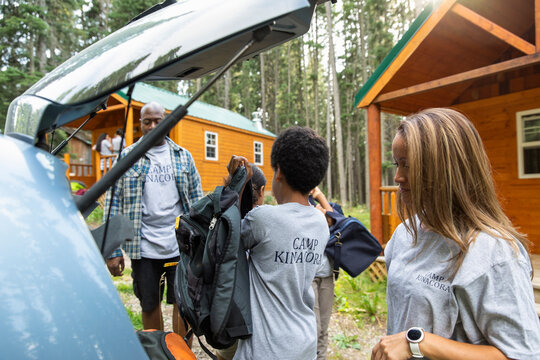
M375 103L408 114L479 100L485 97L479 89L501 76L538 73L534 3L442 0L428 6L360 88L356 106ZM503 90L513 92L508 83Z

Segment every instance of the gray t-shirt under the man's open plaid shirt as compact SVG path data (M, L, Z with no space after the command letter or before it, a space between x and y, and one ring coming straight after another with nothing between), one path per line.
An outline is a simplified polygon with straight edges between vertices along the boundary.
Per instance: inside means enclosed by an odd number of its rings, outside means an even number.
M169 145L154 146L146 156L150 167L143 189L141 256L167 259L179 255L174 226L181 212Z

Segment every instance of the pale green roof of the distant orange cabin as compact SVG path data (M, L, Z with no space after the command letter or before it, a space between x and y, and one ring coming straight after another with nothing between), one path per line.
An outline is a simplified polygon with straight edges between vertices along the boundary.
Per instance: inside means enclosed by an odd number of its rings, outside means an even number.
M117 94L127 100L127 88L119 90ZM141 103L156 101L160 103L166 110L174 110L178 105L185 104L189 100L189 97L178 95L171 91L146 83L138 82L133 89L132 99ZM216 124L232 126L249 132L276 137L274 133L266 129L257 129L255 123L245 116L219 106L204 103L202 101L195 101L188 108L188 115L199 119L212 121Z

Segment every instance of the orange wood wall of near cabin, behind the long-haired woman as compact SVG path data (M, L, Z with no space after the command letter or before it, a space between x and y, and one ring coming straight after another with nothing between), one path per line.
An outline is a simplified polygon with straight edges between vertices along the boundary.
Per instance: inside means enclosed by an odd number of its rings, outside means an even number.
M516 112L540 107L540 88L456 106L474 122L503 208L540 254L540 179L518 178Z

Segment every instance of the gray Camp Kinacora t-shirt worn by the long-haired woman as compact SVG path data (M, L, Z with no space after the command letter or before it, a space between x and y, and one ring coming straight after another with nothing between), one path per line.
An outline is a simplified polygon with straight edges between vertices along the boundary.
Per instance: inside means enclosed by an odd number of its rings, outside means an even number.
M452 280L458 246L419 229L418 242L403 224L385 249L388 334L412 326L464 343L493 345L511 359L540 359L531 264L519 244L480 233Z

